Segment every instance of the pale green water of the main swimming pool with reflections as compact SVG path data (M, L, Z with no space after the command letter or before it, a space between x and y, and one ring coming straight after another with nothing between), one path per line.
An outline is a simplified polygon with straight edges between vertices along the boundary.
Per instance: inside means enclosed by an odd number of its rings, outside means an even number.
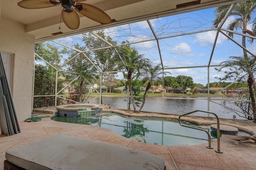
M208 142L206 132L182 127L177 120L139 119L126 117L118 113L102 113L94 117L83 118L54 117L52 120L103 127L126 138L150 144L184 146ZM185 124L195 126L190 123ZM208 129L208 132L211 132L211 130ZM212 140L214 139L212 137Z

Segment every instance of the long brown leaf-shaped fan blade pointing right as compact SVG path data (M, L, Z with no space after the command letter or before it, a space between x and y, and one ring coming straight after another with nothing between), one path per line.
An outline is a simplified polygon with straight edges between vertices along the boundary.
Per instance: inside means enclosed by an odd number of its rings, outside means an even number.
M108 16L108 14L106 14L104 11L97 8L96 6L84 3L76 3L76 6L78 5L82 5L83 10L79 11L77 8L75 8L75 10L77 10L87 18L90 18L91 20L94 20L101 24L109 24L111 22L111 18Z

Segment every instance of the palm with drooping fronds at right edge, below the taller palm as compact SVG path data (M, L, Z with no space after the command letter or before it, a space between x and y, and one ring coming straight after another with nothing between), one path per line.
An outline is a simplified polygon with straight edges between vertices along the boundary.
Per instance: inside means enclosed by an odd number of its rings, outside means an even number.
M227 61L223 61L222 63L220 63L220 65L222 64L223 66L216 70L221 71L222 69L228 69L228 71L224 71L225 76L220 80L246 79L247 85L249 87L250 99L252 101L252 113L254 117L253 122L256 123L256 103L252 89L253 77L256 73L256 56L248 57L248 55L244 55L240 57L229 57Z

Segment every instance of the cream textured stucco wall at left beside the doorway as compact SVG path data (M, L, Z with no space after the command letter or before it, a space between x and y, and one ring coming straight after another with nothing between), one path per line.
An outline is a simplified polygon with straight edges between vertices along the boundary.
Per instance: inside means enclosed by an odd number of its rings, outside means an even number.
M19 22L0 18L0 51L12 53L12 98L19 121L31 116L34 36Z

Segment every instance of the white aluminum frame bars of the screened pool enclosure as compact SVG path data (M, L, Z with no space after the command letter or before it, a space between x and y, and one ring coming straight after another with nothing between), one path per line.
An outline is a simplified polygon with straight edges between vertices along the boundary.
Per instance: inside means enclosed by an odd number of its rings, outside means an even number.
M208 112L210 111L210 101L212 101L212 100L214 100L214 99L212 99L212 97L210 97L210 91L209 91L209 89L210 89L210 87L209 87L209 83L210 83L210 80L209 80L209 75L210 75L210 67L218 67L218 66L220 66L220 65L211 65L211 60L212 60L212 55L213 55L213 53L214 53L214 49L215 49L215 46L216 46L216 42L217 42L217 39L218 39L218 35L219 34L223 34L224 36L226 36L229 40L231 40L232 42L234 42L234 43L236 43L239 47L241 47L241 48L243 48L244 50L246 50L248 53L250 53L251 55L254 55L252 52L250 52L248 49L246 49L246 48L244 48L242 45L240 45L240 43L238 43L238 42L236 42L235 40L233 40L230 36L228 36L227 34L225 34L224 32L232 32L232 33L234 33L234 34L238 34L238 35L242 35L242 36L246 36L246 37L248 37L248 38L254 38L255 39L255 37L254 36L250 36L250 35L247 35L247 34L241 34L241 33L238 33L238 32L235 32L235 31L230 31L230 30L227 30L227 29L225 29L225 28L222 28L223 27L223 25L224 25L224 22L227 20L227 18L228 18L228 16L229 16L229 14L230 14L230 12L232 11L232 9L234 8L234 6L235 6L235 4L232 4L231 6L230 6L230 8L229 8L229 10L228 10L228 12L226 13L226 15L225 15L225 17L224 17L224 19L222 20L222 22L221 22L221 24L220 24L220 26L218 27L218 28L212 28L212 29L208 29L208 30L202 30L202 31L196 31L196 32L189 32L189 33L185 33L185 34L177 34L177 35L173 35L173 36L165 36L165 37L158 37L157 35L156 35L156 32L155 32L155 30L154 30L154 28L152 27L152 24L151 24L151 22L150 22L150 20L146 20L146 22L148 23L148 26L149 26L149 28L151 29L151 31L152 31L152 34L154 35L154 38L152 38L152 39L150 39L150 40L142 40L142 41L137 41L137 42L131 42L131 43L126 43L126 44L122 44L122 45L130 45L130 44L134 44L134 43L142 43L142 42L149 42L149 41L156 41L157 42L157 47L158 47L158 52L159 52L159 58L160 58L160 61L161 61L161 65L162 65L162 70L164 71L164 70L171 70L171 69L187 69L187 68L200 68L200 67L205 67L205 68L207 68L208 69ZM167 14L163 14L163 15L167 15ZM142 19L141 19L142 20ZM213 44L213 47L212 47L212 50L211 50L211 55L210 55L210 59L209 59L209 61L208 61L208 65L198 65L198 66L188 66L188 67L164 67L164 63L163 63L163 61L162 61L162 55L161 55L161 47L160 47L160 45L159 45L159 40L162 40L162 39L166 39L166 38L172 38L172 37L177 37L177 36L184 36L184 35L190 35L190 34L196 34L196 33L201 33L201 32L208 32L208 31L217 31L217 33L216 33L216 37L215 37L215 40L214 40L214 44ZM96 36L97 38L99 38L100 40L102 40L103 42L105 42L105 43L107 43L108 45L109 45L109 47L104 47L104 48L98 48L98 49L106 49L106 48L113 48L114 49L114 51L116 51L116 52L118 52L117 51L117 49L116 49L116 47L119 47L119 46L122 46L122 45L113 45L113 44L111 44L110 42L107 42L106 40L104 40L102 37L100 37L98 34L96 34L96 32L90 32L90 34L92 34L92 35L94 35L94 36ZM40 41L42 41L42 40L40 40ZM40 41L37 41L37 42L40 42ZM66 47L66 48L69 48L69 49L72 49L72 50L74 50L74 51L78 51L79 53L81 53L82 55L84 55L85 57L86 57L86 59L88 59L88 61L98 70L98 72L100 73L100 92L98 92L99 93L99 99L100 99L100 101L101 101L101 98L102 98L102 89L101 89L101 85L102 85L102 76L103 76L103 74L104 73L114 73L114 72L124 72L124 71L106 71L106 72L101 72L100 71L100 69L95 65L95 63L93 63L92 62L92 60L90 60L90 57L89 56L87 56L86 54L85 54L85 52L87 52L87 51L92 51L92 50L86 50L86 51L81 51L81 50L79 50L79 49L75 49L74 47L71 47L71 46L69 46L69 45L66 45L66 44L63 44L63 43L61 43L61 42L58 42L58 41L56 41L56 40L51 40L51 42L54 42L54 43L56 43L56 44L58 44L58 45L62 45L62 46L64 46L64 47ZM93 50L96 50L96 49L93 49ZM35 54L35 55L37 55L37 54ZM37 55L38 57L40 57L39 55ZM76 57L76 56L75 56ZM122 57L119 55L119 57L120 57L120 59L122 59ZM42 57L40 57L41 59L42 59ZM73 59L74 59L74 57L73 57ZM49 64L50 65L50 63L48 63L47 61L45 61L47 64ZM66 63L65 63L66 64ZM55 68L55 67L53 67L52 65L50 65L52 68L54 68L55 70L56 70L56 82L58 82L57 80L58 80L58 71L63 71L63 70L60 70L60 68L63 66L61 66L61 67L59 67L59 68ZM164 77L164 75L163 75L163 77ZM75 80L75 79L74 79ZM74 81L73 80L73 81ZM72 82L73 82L72 81ZM72 82L70 82L70 83L72 83ZM69 83L69 84L70 84ZM68 85L69 85L68 84ZM60 91L58 92L57 91L57 84L56 84L56 87L55 87L56 89L55 89L55 95L52 95L52 96L54 96L55 97L55 106L56 106L56 104L57 104L57 98L59 97L59 98L62 98L62 99L64 99L63 97L60 97L59 95L58 95L58 93L60 93ZM227 87L224 87L224 89L225 88L227 88ZM34 89L34 84L33 84L33 89ZM64 89L64 88L63 88ZM63 90L62 89L62 90ZM218 93L218 92L217 92ZM216 93L216 94L217 94ZM216 95L216 94L214 94L214 95ZM32 98L34 98L34 97L42 97L42 95L40 96L40 95L38 95L38 96L32 96ZM164 94L162 93L162 113L164 113L164 99L172 99L172 97L164 97ZM180 98L180 99L183 99L182 97ZM188 98L186 98L186 99L188 99ZM192 98L191 98L192 99ZM128 100L127 100L127 102L128 102ZM213 102L213 101L212 101ZM215 103L215 102L214 102ZM217 103L218 104L218 103ZM32 107L33 107L33 105L32 105ZM33 108L32 108L33 109ZM127 108L128 109L128 108ZM238 111L239 112L239 111ZM241 112L242 113L242 112ZM244 113L243 113L244 114ZM208 115L209 116L209 115Z

